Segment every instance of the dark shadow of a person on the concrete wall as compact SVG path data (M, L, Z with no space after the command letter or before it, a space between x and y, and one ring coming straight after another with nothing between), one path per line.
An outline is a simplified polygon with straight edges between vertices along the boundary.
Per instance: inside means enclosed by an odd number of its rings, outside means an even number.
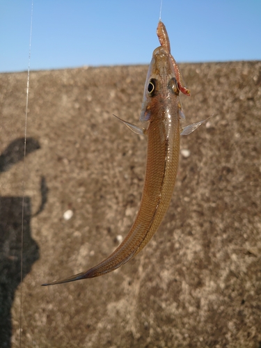
M40 149L38 141L26 141L26 155ZM0 155L0 174L24 159L24 139L15 139ZM1 182L1 176L0 176ZM44 209L48 189L42 177L42 203L36 214ZM0 342L11 347L11 308L15 290L21 282L22 197L0 196ZM31 238L31 198L24 197L23 278L39 258L38 244Z

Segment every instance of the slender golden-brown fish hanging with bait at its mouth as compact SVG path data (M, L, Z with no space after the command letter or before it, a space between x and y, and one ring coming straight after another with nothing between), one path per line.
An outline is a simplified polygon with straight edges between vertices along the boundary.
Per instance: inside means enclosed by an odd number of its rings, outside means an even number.
M179 95L181 92L189 96L190 91L184 85L180 68L171 55L168 33L161 19L157 36L160 46L152 54L141 106L140 121L144 127L116 116L134 133L148 137L143 193L132 228L118 248L102 262L85 272L43 286L95 278L118 269L148 244L164 219L177 177L180 136L190 134L206 120L182 127L185 117Z

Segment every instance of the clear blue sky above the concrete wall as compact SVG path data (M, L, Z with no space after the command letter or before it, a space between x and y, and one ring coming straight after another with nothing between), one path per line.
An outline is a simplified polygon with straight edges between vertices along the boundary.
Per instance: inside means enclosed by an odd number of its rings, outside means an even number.
M31 70L148 64L160 0L33 0ZM261 0L163 0L178 62L261 60ZM27 70L31 0L0 0L0 72Z

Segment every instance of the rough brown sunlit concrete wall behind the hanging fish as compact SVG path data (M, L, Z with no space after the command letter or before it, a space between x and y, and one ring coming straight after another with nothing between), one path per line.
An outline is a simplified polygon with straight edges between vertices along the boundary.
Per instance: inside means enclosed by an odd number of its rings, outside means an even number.
M0 74L0 347L261 347L261 62L181 64L191 97L173 199L148 246L120 269L86 271L139 207L148 66ZM22 182L24 279L20 283ZM66 221L63 214L71 209Z

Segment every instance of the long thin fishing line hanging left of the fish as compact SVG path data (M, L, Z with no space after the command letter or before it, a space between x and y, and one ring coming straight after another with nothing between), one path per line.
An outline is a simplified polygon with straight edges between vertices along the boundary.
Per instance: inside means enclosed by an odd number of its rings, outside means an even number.
M21 228L21 279L20 279L20 313L19 313L19 347L22 347L22 281L23 281L23 244L24 244L24 191L25 191L25 157L26 157L26 136L27 136L27 116L28 116L28 100L29 100L29 81L30 81L30 61L31 61L31 40L33 28L33 0L31 6L31 25L30 25L30 40L29 40L29 61L27 70L27 86L26 86L26 109L24 119L24 167L22 178L22 228Z

